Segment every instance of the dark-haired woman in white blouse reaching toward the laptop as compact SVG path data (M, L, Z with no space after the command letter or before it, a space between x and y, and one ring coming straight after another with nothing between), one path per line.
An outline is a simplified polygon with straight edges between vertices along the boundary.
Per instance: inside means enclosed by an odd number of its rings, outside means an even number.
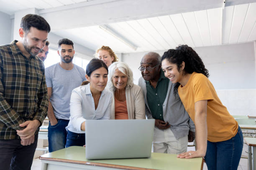
M108 81L107 65L93 58L86 67L85 77L87 81L71 94L66 148L85 144L86 120L110 119L113 95L105 89Z

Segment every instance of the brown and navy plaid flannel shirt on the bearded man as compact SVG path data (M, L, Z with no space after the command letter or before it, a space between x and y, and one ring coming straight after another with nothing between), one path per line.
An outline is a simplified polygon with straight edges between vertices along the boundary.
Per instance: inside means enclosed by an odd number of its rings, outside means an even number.
M5 140L20 138L16 133L24 129L20 123L42 124L48 109L44 63L24 56L16 42L0 46L0 139Z

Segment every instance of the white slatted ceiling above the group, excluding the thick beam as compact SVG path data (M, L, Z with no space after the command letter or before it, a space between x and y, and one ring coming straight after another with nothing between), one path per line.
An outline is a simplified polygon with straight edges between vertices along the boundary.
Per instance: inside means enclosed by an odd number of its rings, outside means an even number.
M85 1L88 0L0 0L0 11L11 15L15 11L31 7L51 9ZM91 1L98 2L99 0ZM105 2L108 1L110 0L105 0ZM63 20L67 22L65 19ZM69 23L67 22L67 24ZM53 29L53 33L67 37L91 50L108 45L115 52L120 53L167 50L179 44L202 47L249 42L256 40L256 1L104 25L123 39L128 40L133 46L138 47L137 50L105 32L99 25L62 30Z

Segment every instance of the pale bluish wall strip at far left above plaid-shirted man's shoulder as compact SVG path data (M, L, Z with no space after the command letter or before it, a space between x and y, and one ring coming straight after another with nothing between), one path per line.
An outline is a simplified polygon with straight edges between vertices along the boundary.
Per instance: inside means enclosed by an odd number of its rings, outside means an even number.
M10 44L11 30L10 15L0 12L0 45Z

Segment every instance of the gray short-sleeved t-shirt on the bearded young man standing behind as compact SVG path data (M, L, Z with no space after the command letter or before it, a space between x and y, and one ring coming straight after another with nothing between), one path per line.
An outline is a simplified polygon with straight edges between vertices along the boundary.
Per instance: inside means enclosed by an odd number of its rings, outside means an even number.
M50 101L55 117L69 120L71 92L86 80L84 69L74 64L72 70L64 70L57 63L45 69L45 77L47 87L52 88Z

